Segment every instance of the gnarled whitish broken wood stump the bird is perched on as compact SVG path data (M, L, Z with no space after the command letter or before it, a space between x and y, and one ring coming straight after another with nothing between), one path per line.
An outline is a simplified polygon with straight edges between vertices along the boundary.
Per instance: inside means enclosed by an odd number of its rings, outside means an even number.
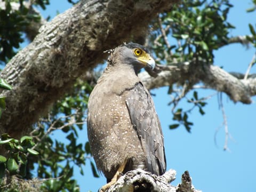
M199 192L192 185L188 171L182 174L181 183L175 187L169 183L175 180L176 171L169 170L161 176L137 169L125 173L106 192L148 191L148 192Z

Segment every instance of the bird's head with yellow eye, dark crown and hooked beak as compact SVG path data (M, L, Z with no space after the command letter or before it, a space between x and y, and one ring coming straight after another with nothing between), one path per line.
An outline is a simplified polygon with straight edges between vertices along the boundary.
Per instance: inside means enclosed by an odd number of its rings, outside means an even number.
M155 68L155 60L149 51L140 44L127 43L116 47L110 55L113 65L130 65L137 73L141 68Z

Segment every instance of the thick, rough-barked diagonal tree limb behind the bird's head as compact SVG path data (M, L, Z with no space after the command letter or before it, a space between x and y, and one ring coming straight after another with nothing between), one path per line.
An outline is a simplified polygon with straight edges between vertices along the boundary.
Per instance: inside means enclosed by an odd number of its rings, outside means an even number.
M150 20L177 0L81 0L39 30L34 41L6 65L0 133L19 137L67 92L77 77L102 62L102 52L145 36Z

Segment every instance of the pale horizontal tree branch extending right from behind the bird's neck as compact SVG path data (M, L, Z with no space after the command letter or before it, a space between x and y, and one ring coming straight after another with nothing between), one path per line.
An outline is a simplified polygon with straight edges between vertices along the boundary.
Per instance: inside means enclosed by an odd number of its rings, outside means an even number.
M170 86L185 81L203 82L206 87L226 93L234 102L251 103L251 97L256 95L256 78L238 79L218 66L209 65L203 61L196 63L180 62L162 69L156 78L143 72L139 74L148 89Z

